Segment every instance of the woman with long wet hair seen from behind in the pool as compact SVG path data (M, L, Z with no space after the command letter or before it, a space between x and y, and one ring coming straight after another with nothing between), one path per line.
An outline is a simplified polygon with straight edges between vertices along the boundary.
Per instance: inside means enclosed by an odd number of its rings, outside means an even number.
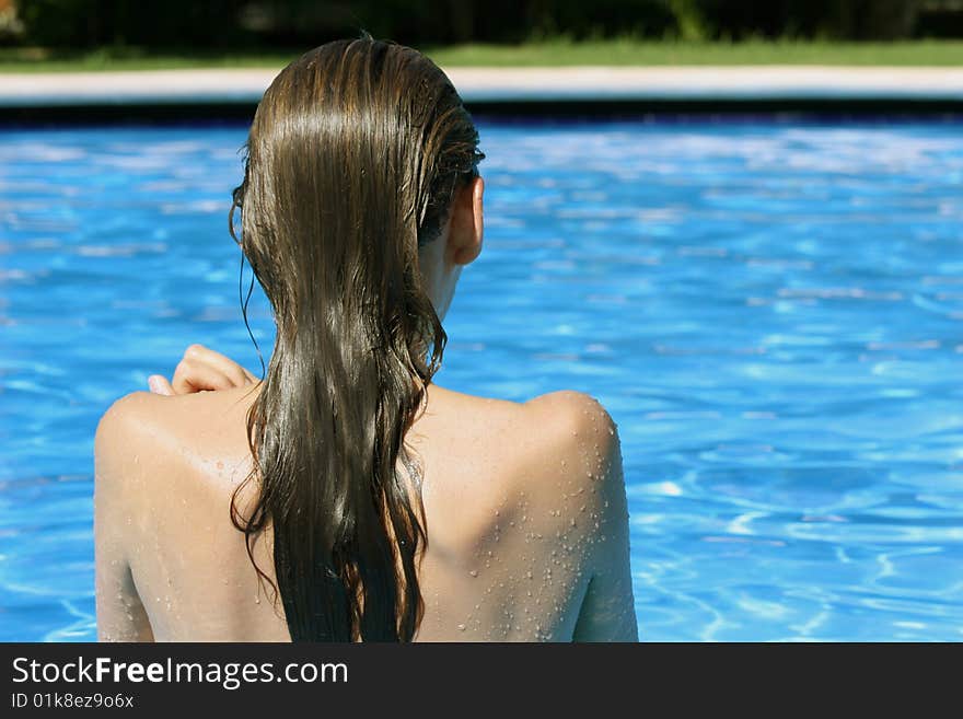
M406 47L329 43L277 77L234 194L271 360L253 382L192 348L171 396L102 419L102 639L636 639L605 410L431 382L481 250L477 139Z

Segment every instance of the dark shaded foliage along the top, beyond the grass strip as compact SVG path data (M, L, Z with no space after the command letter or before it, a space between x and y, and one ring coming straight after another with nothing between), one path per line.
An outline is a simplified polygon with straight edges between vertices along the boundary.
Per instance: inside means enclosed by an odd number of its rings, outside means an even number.
M409 45L650 38L963 36L956 0L0 0L7 43L89 49L252 49L356 35Z

